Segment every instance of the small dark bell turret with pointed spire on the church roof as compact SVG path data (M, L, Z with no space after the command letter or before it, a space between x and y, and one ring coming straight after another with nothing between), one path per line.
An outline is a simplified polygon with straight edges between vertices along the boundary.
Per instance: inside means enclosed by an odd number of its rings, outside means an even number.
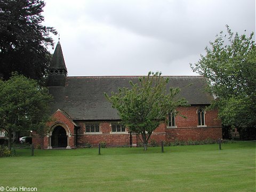
M51 59L50 71L46 80L46 86L65 86L67 72L68 71L59 41Z

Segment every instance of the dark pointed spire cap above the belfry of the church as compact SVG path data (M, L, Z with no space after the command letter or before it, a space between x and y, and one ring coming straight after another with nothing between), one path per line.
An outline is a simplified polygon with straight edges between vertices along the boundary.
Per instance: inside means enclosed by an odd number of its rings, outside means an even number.
M50 64L50 73L67 74L67 68L63 57L60 41L57 43Z

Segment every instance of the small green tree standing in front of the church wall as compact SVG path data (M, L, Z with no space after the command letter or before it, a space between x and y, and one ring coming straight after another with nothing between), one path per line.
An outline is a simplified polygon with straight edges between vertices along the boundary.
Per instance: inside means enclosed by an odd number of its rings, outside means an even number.
M184 99L174 99L178 88L166 91L168 78L161 73L148 73L139 78L138 83L130 81L131 88L119 88L118 93L105 93L107 100L116 108L122 123L131 132L141 135L144 150L147 150L148 140L157 126L168 114L178 106L185 106Z

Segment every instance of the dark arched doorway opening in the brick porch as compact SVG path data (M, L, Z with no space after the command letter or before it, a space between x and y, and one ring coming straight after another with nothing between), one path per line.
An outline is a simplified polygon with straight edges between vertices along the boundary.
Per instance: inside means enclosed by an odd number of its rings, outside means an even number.
M67 132L62 126L54 128L51 139L53 148L66 148L68 146Z

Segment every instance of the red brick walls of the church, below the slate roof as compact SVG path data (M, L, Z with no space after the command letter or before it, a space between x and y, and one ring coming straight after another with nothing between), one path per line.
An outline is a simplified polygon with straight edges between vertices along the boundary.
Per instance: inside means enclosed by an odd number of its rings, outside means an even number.
M204 106L189 106L189 107L179 107L177 111L181 115L186 116L183 118L181 116L177 116L175 118L176 128L166 128L166 123L162 122L157 129L151 135L149 143L152 140L155 140L157 143L161 143L161 141L174 141L178 140L205 140L205 139L219 139L222 138L221 131L221 121L217 118L218 111L217 110L209 110L206 111L205 114L205 125L207 127L197 127L198 125L198 115L196 113L198 108L205 108ZM49 125L52 126L55 122L63 122L69 127L71 137L69 137L69 146L71 148L75 147L75 133L74 133L74 124L67 118L65 115L61 113L61 111L57 111L53 115L53 122L49 122ZM77 145L83 145L87 142L90 144L97 146L99 142L106 142L107 146L124 146L130 145L130 133L120 133L115 134L111 133L111 122L114 121L100 121L100 122L85 122L85 121L77 121L76 124L80 126L77 135ZM85 130L86 123L99 123L100 124L100 132L99 133L90 133L87 134ZM126 130L127 131L127 130ZM43 142L42 140L33 138L33 143ZM49 142L49 138L45 137L43 146L47 148ZM132 143L139 144L141 141L138 138L138 135L132 135Z

